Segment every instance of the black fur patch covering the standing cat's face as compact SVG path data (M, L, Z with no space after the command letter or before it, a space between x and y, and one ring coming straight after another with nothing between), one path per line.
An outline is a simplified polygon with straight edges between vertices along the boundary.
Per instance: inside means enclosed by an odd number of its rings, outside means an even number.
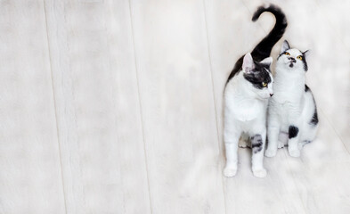
M256 63L255 62L255 68L252 70L251 73L244 73L243 77L247 79L253 86L255 86L258 89L263 89L263 82L270 83L271 77L270 77L270 68L267 67L265 64L262 63Z

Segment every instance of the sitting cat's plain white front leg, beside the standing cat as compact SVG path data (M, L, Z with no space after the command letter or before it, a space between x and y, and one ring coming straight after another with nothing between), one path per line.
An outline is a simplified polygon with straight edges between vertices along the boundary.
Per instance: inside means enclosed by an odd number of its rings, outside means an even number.
M271 114L268 118L267 123L267 138L268 138L268 144L267 149L265 151L265 156L272 158L276 155L277 148L278 148L278 137L280 134L280 122L277 118L277 115Z

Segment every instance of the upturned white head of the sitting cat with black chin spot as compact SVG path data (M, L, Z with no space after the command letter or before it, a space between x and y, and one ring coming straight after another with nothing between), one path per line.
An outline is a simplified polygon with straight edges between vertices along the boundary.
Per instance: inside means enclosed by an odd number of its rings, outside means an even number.
M281 47L281 53L277 58L277 65L290 72L307 71L306 55L296 48L290 48L288 42L285 40Z

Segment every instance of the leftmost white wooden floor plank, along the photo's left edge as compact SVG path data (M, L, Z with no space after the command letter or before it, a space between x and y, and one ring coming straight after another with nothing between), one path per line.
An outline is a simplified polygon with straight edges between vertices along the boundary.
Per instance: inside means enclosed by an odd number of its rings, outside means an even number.
M0 13L0 212L65 213L44 4Z

